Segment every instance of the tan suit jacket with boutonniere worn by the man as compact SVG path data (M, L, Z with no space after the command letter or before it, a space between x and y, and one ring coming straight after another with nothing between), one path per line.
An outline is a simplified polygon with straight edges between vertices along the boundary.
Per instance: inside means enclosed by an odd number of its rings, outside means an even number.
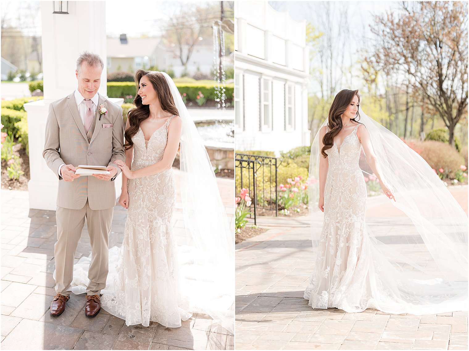
M101 104L105 105L107 113L99 120L98 109ZM99 95L98 109L95 112L96 126L88 142L74 93L49 106L42 156L60 180L57 194L57 205L60 207L82 209L87 199L93 210L109 209L116 204L113 181L81 176L66 182L57 173L61 164L76 167L79 164L113 165L113 161L118 159L125 162L122 108ZM113 124L113 127L103 128L103 124ZM121 169L117 167L117 174L120 172Z

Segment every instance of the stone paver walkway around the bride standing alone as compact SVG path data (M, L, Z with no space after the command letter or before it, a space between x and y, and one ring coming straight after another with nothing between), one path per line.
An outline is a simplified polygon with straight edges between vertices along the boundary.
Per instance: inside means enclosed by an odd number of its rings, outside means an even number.
M468 187L451 192L467 213ZM376 235L409 230L393 209L384 195L369 199L367 223ZM315 219L319 228L322 217ZM236 245L236 350L468 350L467 312L310 308L303 299L314 263L309 217L258 217L257 224L269 230Z

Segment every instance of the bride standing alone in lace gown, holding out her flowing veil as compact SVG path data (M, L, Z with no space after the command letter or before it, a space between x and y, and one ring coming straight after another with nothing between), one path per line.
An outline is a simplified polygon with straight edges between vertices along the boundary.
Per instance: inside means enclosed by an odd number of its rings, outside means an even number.
M316 261L304 298L346 312L467 310L465 213L418 154L363 113L357 92L337 94L311 146L310 213L320 209L324 222L320 232L312 226ZM411 233L375 237L365 223L361 156Z

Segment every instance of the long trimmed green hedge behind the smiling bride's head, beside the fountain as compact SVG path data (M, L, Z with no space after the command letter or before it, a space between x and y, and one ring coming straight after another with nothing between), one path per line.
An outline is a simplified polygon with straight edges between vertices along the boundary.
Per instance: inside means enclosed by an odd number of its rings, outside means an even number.
M215 88L213 83L200 84L200 83L176 83L176 87L181 94L186 93L187 101L195 102L199 91L202 92L207 100L214 100L216 97ZM227 102L233 100L234 84L227 84L226 96ZM107 96L108 97L126 97L128 95L135 96L135 83L134 82L108 82L107 83Z

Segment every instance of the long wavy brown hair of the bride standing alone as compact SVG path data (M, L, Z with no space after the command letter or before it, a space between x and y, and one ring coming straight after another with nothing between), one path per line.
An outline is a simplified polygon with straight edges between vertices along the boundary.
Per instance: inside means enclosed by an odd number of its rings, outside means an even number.
M358 95L358 90L343 89L340 90L339 93L334 97L334 101L332 102L331 108L329 109L327 121L329 131L324 134L324 147L321 149L321 154L324 158L327 157L325 150L332 148L335 136L339 134L340 130L342 130L342 117L340 116L345 112L345 110L347 110L348 105L350 105L354 96L358 97L358 103L360 103L360 95ZM360 123L358 122L359 119L360 113L357 111L355 118L351 118L350 120Z

